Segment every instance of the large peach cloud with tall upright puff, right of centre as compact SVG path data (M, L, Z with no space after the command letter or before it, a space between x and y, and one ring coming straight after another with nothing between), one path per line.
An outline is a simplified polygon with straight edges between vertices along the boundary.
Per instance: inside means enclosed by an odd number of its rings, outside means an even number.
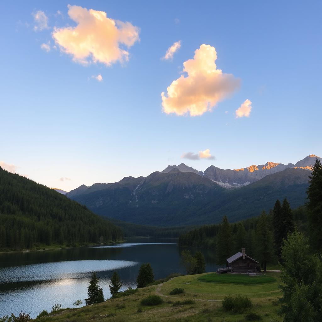
M214 47L203 44L194 53L193 59L183 63L187 76L181 75L167 88L167 94L161 93L166 114L202 115L239 88L239 79L217 69Z

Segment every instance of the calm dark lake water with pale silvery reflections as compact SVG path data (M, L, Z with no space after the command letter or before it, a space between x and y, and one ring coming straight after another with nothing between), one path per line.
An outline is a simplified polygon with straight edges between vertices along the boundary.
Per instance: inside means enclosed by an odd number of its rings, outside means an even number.
M122 280L122 290L136 288L142 263L151 263L155 279L185 273L181 251L175 239L131 238L110 246L0 255L0 317L21 310L36 317L43 309L51 311L55 303L64 308L73 307L78 299L85 303L94 271L105 298L110 297L109 282L114 270ZM217 270L214 251L201 251L206 271Z

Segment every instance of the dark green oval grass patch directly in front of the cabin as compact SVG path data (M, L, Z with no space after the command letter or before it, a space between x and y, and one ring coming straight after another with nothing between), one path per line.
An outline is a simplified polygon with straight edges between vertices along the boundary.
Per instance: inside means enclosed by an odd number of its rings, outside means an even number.
M200 281L208 283L233 283L233 284L264 284L276 282L276 279L272 276L257 275L248 276L247 274L206 274L198 278Z

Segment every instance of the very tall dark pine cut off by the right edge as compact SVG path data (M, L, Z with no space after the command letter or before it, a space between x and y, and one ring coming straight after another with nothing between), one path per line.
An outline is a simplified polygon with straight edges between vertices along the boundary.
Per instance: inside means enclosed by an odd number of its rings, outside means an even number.
M319 252L322 251L322 165L316 159L312 174L309 176L310 184L307 190L310 221L311 245Z

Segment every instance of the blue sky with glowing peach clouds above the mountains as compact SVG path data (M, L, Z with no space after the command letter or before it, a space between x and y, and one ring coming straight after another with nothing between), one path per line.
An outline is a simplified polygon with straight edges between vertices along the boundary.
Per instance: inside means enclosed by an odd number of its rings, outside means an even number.
M0 166L49 187L322 156L321 1L2 1Z

